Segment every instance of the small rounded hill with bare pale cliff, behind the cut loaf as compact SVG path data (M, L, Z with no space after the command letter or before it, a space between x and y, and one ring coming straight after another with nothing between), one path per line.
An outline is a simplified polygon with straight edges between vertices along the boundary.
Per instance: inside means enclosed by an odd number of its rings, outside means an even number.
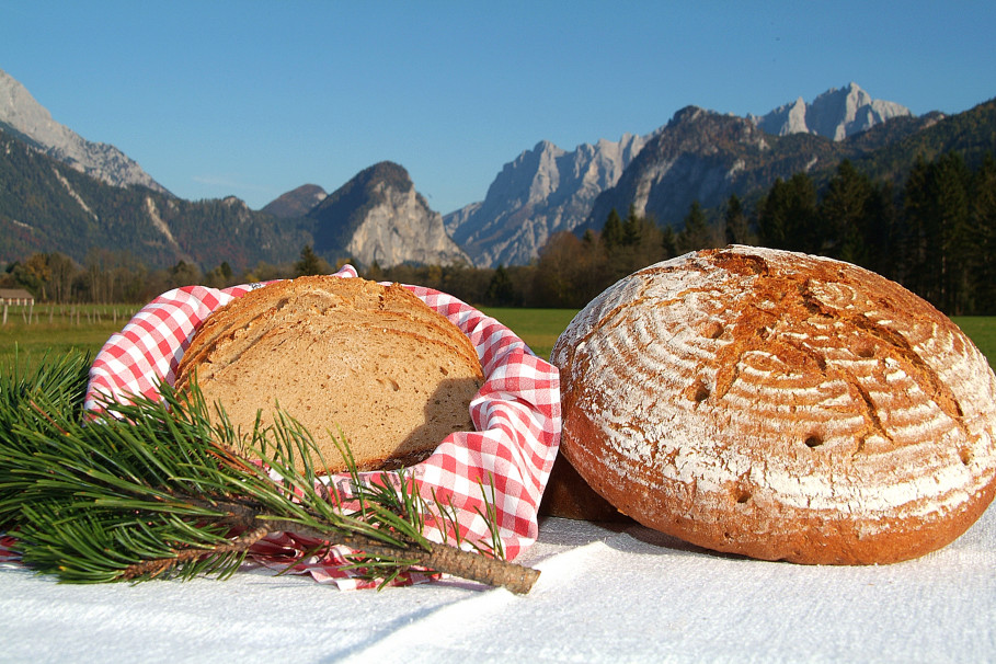
M351 256L362 265L471 264L450 239L443 216L415 191L402 167L375 164L325 197L308 214L314 251Z

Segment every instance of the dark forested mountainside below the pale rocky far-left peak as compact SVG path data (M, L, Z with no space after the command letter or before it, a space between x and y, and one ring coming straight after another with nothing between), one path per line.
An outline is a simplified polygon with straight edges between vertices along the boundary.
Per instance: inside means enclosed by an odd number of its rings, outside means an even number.
M237 198L105 184L0 130L0 264L53 251L84 264L92 250L113 250L152 270L179 261L243 270L293 260L308 239Z

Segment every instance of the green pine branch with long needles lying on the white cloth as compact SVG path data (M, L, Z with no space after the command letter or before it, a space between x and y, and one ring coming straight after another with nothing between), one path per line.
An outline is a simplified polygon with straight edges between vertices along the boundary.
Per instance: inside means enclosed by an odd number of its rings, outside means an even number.
M470 553L423 536L428 507L403 473L400 488L364 485L352 465L344 504L317 481L323 463L308 432L281 413L240 439L224 413L210 424L196 387L162 386L161 403L107 403L103 420L84 423L83 362L0 376L0 528L16 529L23 561L42 572L79 583L225 577L260 539L291 531L346 546L357 566L388 579L419 566L526 593L538 576L480 554L501 553L493 506L482 514L493 541ZM344 444L343 454L352 458Z

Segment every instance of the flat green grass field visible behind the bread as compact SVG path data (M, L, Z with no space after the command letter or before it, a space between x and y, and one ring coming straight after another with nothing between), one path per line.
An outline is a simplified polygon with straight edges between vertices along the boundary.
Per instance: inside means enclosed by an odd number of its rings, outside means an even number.
M134 305L54 309L39 306L34 308L28 323L26 310L11 307L7 324L0 325L0 369L9 366L15 348L22 357L26 354L30 359L38 358L46 352L66 353L70 350L95 354L137 309ZM577 313L574 309L484 308L483 311L515 331L534 353L546 358L550 356L557 337ZM954 322L989 358L989 365L994 365L996 317L960 317Z

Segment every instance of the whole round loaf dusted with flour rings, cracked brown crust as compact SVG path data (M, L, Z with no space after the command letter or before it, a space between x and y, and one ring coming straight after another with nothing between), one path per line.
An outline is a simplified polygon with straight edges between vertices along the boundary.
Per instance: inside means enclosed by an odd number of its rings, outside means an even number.
M622 513L718 551L888 563L996 491L996 378L900 285L731 247L609 287L554 345L561 450Z

